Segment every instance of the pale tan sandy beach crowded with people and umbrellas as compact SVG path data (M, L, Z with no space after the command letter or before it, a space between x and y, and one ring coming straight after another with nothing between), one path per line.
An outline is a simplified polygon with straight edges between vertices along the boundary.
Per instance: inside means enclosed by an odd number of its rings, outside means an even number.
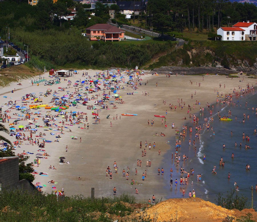
M74 93L75 87L73 83L75 81L82 81L85 77L82 76L82 73L88 72L88 74L93 77L97 72L103 72L100 70L79 70L80 74L69 77L68 80L72 82L69 89L70 93ZM148 73L151 73L148 71ZM43 75L45 79L50 79L48 74ZM39 167L35 167L37 172L48 173L47 176L35 174L34 184L40 182L41 186L46 185L42 188L44 192L51 193L52 191L61 190L64 188L65 194L67 196L71 195L85 195L89 196L91 193L91 187L95 188L95 196L107 196L113 194L113 188L117 188L117 194L121 193L130 193L135 194L135 188L138 189L138 195L136 199L149 199L154 194L157 199L165 197L168 193L168 189L164 189L167 184L167 178L170 175L170 168L172 163L170 162L170 167L164 168L164 176L157 175L157 169L169 165L169 161L165 159L167 152L171 152L171 147L175 146L175 128L182 129L182 126L188 122L189 115L188 104L191 106L192 110L190 113L196 114L199 112L200 107L206 107L206 103L216 103L217 99L217 90L219 93L233 93L233 89L238 90L238 86L242 86L243 89L246 87L246 84L255 85L255 79L248 79L244 77L244 82L239 82L242 80L242 75L240 79L238 78L226 78L226 76L218 75L204 75L203 76L185 76L185 75L171 75L170 78L166 75L141 75L142 85L137 84L138 89L135 91L131 89L130 85L120 82L121 86L124 86L125 89L120 89L117 91L119 96L122 97L125 104L116 103L114 98L110 98L108 103L105 103L109 106L110 109L101 109L99 111L99 124L95 123L95 120L92 119L91 113L93 110L87 110L87 106L78 105L77 108L69 107L65 110L67 112L79 111L87 113L88 122L85 119L81 119L83 124L80 127L84 127L84 123L89 123L89 129L81 129L76 124L73 126L67 126L72 132L69 132L69 129L65 129L61 134L61 138L58 142L46 143L45 150L50 155L48 159L41 159ZM96 79L93 77L93 79ZM119 77L117 77L119 79ZM128 77L126 77L126 81ZM148 84L145 83L148 81ZM192 81L192 85L190 83ZM198 83L200 82L200 87ZM156 83L158 83L156 87ZM34 84L33 86L29 83L29 80L21 82L21 86L17 83L13 83L9 87L4 87L0 89L0 95L2 97L1 106L3 111L9 109L11 106L5 105L9 100L13 102L16 100L17 105L21 105L21 96L28 93L35 93L39 96L40 92L45 93L47 89L55 90L60 97L66 92L58 91L58 87L67 87L67 81L64 81L61 77L61 83L44 86L43 83L40 83L39 86ZM219 88L221 84L221 88ZM224 88L225 84L225 88ZM14 93L11 93L11 90L16 89ZM76 87L77 88L77 87ZM216 89L216 92L214 92ZM105 90L108 94L110 90ZM196 91L196 93L195 93ZM85 86L83 87L83 92L85 92ZM83 93L81 92L81 93ZM127 95L127 93L133 93L133 95ZM142 95L144 92L149 93L148 95ZM96 95L100 94L98 98L103 98L103 90L98 91L97 93L90 94ZM111 92L111 96L113 92ZM192 98L191 98L192 95ZM7 98L3 98L7 96ZM42 97L42 104L50 104L49 101L52 99L52 94L48 97ZM178 107L178 98L183 99L185 102L185 107L183 109ZM224 99L224 98L219 98ZM195 102L199 101L200 105L193 105ZM117 109L112 109L113 103L117 106ZM164 105L163 101L166 101ZM89 101L88 105L93 105L95 100ZM177 106L176 111L169 109L169 103L171 105ZM28 103L29 105L30 103ZM28 105L26 107L28 107ZM52 103L51 103L52 105ZM97 109L100 109L100 106L97 106ZM167 110L167 115L166 115ZM33 113L35 113L34 110ZM41 113L40 117L37 115L31 115L31 117L38 118L36 121L39 125L43 125L43 116L45 116L47 109L40 108L36 111ZM11 109L11 113L8 115L11 116L9 123L12 123L15 119L21 118L13 113L19 113L16 109ZM122 116L122 113L133 113L137 114L136 116ZM51 111L51 115L56 115L57 112ZM107 119L107 115L110 117ZM116 115L118 119L116 119ZM162 125L162 119L160 117L154 117L154 115L163 115L166 117L167 128L164 128L165 123ZM121 116L121 119L120 119ZM85 117L85 115L84 115ZM186 117L186 120L183 119ZM114 118L114 119L113 119ZM54 123L61 126L60 121L64 120L62 117L57 117L57 121ZM151 126L151 121L154 119L154 124ZM148 120L150 124L148 125ZM112 122L112 127L110 127L110 122ZM9 123L4 123L4 125L9 128ZM50 121L53 123L53 121ZM65 122L66 123L66 122ZM174 123L174 129L171 129L172 123ZM28 121L23 120L19 121L18 125L15 125L16 129L19 125L27 125ZM35 126L35 125L32 125ZM49 127L51 128L51 127ZM50 135L55 131L50 131L49 128L36 128L37 134L33 134L33 139L35 136L39 135L40 132L45 133L44 139L54 141L56 140L56 135ZM49 131L45 131L49 130ZM24 132L26 137L29 136L29 132ZM164 133L166 136L156 136L157 134ZM71 139L71 136L78 137L77 140ZM82 139L80 143L80 137ZM7 135L7 138L10 139ZM171 139L170 139L171 138ZM38 139L38 138L37 138ZM12 137L11 141L15 141L15 137ZM142 141L142 149L140 149L140 141ZM148 146L145 148L145 141L148 145L151 143L152 147L149 150ZM169 141L169 142L168 142ZM155 143L155 149L153 148L153 143ZM68 146L68 151L66 152L65 147ZM142 157L142 150L146 149L146 156ZM38 153L40 149L37 145L31 145L28 141L24 141L20 147L16 146L15 153L21 153L23 150L25 152L30 152L34 154L29 154L30 161L33 161L35 154ZM161 151L158 155L158 151ZM173 151L172 151L173 152ZM43 153L42 153L43 154ZM180 154L181 156L183 154ZM65 157L65 162L69 161L69 164L61 164L59 157ZM142 167L137 167L137 159L141 159ZM190 156L189 156L190 159ZM151 161L151 167L146 167L146 161ZM118 174L115 173L113 169L114 162L116 161L118 166ZM54 165L57 170L49 169L50 165ZM110 166L111 171L113 172L113 179L111 180L109 175L106 177L106 169ZM122 176L122 171L125 169L127 172L127 167L129 167L129 177L126 180L126 177ZM135 168L137 168L137 176L135 175ZM173 168L173 180L174 177L180 178L180 166L177 170ZM147 177L142 181L142 173L147 171ZM79 180L78 178L81 178ZM48 181L53 179L56 184L50 184ZM131 185L131 179L135 181L134 185ZM169 180L168 180L169 181ZM189 179L190 183L190 179ZM139 185L142 184L142 185ZM51 189L52 185L56 186L56 189Z

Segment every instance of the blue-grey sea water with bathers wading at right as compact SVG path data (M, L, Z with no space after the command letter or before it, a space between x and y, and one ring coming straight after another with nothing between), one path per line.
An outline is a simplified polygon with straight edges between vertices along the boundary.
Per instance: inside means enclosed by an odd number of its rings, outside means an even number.
M174 157L171 159L172 152L175 153L175 141L170 141L171 149L167 153L165 161L166 165L169 165L173 169L173 186L169 186L170 176L166 176L165 189L170 190L170 194L167 198L181 197L182 189L185 187L186 196L188 196L189 191L194 189L196 191L196 196L211 201L215 203L216 193L230 191L230 189L235 189L234 183L236 182L239 191L236 191L238 195L244 195L248 197L249 203L251 201L251 190L250 187L254 188L254 206L257 206L257 191L255 190L255 185L257 184L257 136L254 135L254 129L257 130L257 117L255 108L257 107L257 94L247 95L242 99L233 98L233 101L236 101L237 106L221 106L219 104L213 104L214 110L212 112L212 117L214 122L210 122L209 131L205 128L201 130L200 140L195 139L195 127L196 124L188 122L186 137L182 140L181 150L178 153L181 156L185 154L188 156L188 161L180 161L179 167L174 165ZM237 102L238 101L238 102ZM245 103L247 101L247 107ZM241 106L240 106L241 104ZM196 110L197 110L196 106ZM252 111L254 107L254 111ZM248 109L250 108L250 109ZM198 107L200 109L200 106ZM218 111L220 112L221 117L223 115L228 116L228 111L231 110L231 119L233 121L220 121L218 118ZM244 119L243 113L246 114L245 123L242 123ZM247 119L249 115L249 119ZM204 124L204 118L210 117L210 113L207 107L204 107L203 113L198 113L199 122L198 125ZM237 120L235 119L237 117ZM191 119L190 119L191 120ZM241 121L241 123L240 123ZM189 133L189 126L193 127L192 135ZM215 136L213 136L213 131L215 131ZM231 136L232 131L232 136ZM250 140L242 140L243 132L245 136L250 136ZM178 139L178 136L176 137ZM195 139L196 144L196 154L194 154L193 145L189 146L188 141ZM235 142L237 146L235 146ZM242 147L240 148L240 142ZM223 149L223 144L226 146ZM251 148L245 149L245 145L250 146ZM232 157L234 153L234 158ZM206 160L203 160L203 156L206 156ZM224 167L220 166L220 159L223 158ZM168 160L168 161L167 161ZM168 164L167 164L168 162ZM249 164L251 169L246 170L246 164ZM213 174L212 169L216 165L217 174ZM180 177L186 176L186 174L180 174L180 167L185 169L185 171L190 172L190 168L194 168L194 176L190 176L188 185L181 186L178 185L177 188L174 186L174 181L177 179L180 180ZM197 181L197 174L201 174L201 181ZM228 173L230 173L230 179L228 179ZM193 185L192 185L193 182ZM180 182L178 182L180 184ZM224 193L226 195L226 193Z

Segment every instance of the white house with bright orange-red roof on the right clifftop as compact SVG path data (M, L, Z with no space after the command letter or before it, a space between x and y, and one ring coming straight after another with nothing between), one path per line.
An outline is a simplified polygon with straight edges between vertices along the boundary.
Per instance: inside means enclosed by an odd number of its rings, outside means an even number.
M217 34L223 41L256 41L257 24L255 22L238 22L232 27L220 27Z

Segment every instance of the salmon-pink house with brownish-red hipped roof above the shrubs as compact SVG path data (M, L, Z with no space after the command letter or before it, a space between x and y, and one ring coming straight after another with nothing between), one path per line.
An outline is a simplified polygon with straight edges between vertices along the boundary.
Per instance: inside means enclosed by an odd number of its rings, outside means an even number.
M90 40L121 41L124 40L124 33L120 28L109 24L96 24L86 29L86 36Z

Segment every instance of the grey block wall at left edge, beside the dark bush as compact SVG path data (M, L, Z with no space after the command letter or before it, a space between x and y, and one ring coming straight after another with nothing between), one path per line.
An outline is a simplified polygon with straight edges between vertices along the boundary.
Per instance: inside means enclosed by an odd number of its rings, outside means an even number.
M7 158L7 157L4 157ZM0 159L0 183L2 187L15 187L19 182L19 157Z

